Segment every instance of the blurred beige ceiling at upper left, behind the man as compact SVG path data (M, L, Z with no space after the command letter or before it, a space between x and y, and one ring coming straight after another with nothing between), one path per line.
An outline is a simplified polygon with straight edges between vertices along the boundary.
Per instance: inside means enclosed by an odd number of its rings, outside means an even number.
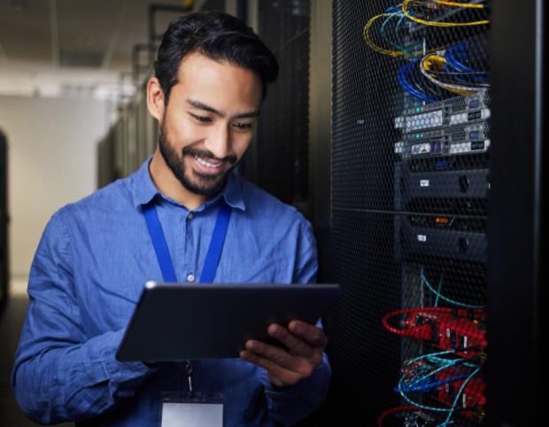
M119 96L132 51L148 43L149 6L189 0L0 0L0 96ZM161 33L177 15L156 14Z

